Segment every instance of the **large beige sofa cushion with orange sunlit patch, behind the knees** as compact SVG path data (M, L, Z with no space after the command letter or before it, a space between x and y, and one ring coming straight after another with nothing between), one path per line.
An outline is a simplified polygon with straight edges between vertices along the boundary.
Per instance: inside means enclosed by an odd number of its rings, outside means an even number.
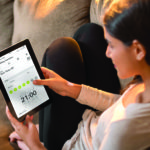
M13 43L28 38L41 63L53 40L89 22L91 0L15 0Z

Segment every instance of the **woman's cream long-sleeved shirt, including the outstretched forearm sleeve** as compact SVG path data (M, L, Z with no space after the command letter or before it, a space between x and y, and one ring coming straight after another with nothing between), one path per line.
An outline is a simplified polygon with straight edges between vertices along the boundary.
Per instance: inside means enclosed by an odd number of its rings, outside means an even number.
M144 150L150 147L150 104L134 103L124 108L122 99L126 92L120 96L82 85L77 101L106 110L102 114L86 110L78 130L63 150Z

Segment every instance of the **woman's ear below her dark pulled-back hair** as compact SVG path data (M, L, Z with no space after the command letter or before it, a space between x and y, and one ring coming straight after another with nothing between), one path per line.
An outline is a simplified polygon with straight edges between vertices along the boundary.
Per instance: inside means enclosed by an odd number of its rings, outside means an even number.
M138 61L145 59L146 55L145 47L138 40L133 40L133 46L136 59Z

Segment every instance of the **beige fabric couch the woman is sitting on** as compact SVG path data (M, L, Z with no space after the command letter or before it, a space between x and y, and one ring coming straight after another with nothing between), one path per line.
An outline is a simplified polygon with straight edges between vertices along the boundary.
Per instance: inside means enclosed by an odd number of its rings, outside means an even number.
M102 25L102 4L103 0L0 0L0 50L27 38L41 64L46 48L58 37L72 37L88 22ZM120 81L124 86L130 79ZM0 149L11 150L8 135L13 129L5 106L0 92Z

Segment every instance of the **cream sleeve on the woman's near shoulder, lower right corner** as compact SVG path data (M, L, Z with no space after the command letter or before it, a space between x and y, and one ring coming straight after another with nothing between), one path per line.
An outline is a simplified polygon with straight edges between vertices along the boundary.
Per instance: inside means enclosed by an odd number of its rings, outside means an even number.
M126 109L125 119L110 125L99 150L145 150L150 147L150 105L139 107L132 104Z

